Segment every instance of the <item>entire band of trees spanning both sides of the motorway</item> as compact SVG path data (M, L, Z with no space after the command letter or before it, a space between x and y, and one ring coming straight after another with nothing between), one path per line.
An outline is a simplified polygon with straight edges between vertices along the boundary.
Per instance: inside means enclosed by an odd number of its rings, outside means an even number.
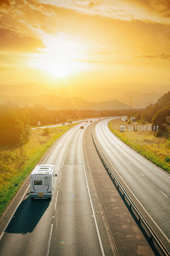
M0 144L18 145L29 140L31 125L36 126L38 121L42 125L81 120L82 118L98 116L135 116L139 122L148 122L159 125L162 131L170 132L170 92L161 96L155 104L146 109L119 109L119 110L91 110L66 109L48 110L36 104L33 107L19 107L17 104L7 102L0 105ZM56 122L58 118L58 122Z

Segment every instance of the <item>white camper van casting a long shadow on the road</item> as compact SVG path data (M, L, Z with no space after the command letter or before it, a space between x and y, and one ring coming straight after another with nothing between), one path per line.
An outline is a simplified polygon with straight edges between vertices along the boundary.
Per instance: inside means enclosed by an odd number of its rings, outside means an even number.
M55 165L36 165L30 175L30 197L51 198L54 189Z

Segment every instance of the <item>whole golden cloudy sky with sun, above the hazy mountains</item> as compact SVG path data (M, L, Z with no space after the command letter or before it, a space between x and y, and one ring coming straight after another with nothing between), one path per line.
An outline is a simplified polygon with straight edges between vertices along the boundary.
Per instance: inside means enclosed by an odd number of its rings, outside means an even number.
M170 0L0 0L0 84L152 91L170 81L169 18Z

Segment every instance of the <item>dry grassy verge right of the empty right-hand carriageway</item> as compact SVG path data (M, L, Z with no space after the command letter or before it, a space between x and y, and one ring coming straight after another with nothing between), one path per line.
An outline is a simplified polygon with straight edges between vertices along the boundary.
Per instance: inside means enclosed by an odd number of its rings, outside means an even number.
M126 131L120 132L120 124L126 126ZM140 124L137 125L140 126ZM146 126L147 125L151 124L146 124ZM110 121L108 126L110 130L123 142L150 160L152 163L170 173L170 163L167 162L168 156L170 155L169 139L156 138L152 131L128 131L128 124L120 119Z

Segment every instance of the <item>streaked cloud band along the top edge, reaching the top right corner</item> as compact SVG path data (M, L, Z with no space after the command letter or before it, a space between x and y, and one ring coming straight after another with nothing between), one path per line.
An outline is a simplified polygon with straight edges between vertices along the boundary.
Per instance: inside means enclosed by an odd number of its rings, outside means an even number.
M169 0L39 0L59 8L115 20L145 20L169 23Z

